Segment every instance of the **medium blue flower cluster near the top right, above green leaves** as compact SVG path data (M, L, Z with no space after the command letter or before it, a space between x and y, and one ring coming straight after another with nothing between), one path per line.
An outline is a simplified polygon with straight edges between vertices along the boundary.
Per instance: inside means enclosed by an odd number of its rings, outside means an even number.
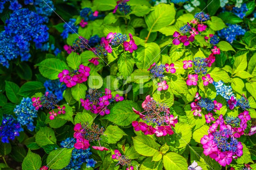
M226 24L227 28L223 28L220 31L217 31L218 36L222 39L226 39L229 43L233 43L236 40L236 37L239 35L244 35L246 30L242 29L240 25L237 24Z

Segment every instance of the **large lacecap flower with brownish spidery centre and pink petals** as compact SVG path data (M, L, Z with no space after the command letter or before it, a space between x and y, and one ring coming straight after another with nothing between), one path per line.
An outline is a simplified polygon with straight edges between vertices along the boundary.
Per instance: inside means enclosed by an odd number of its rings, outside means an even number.
M142 108L144 111L140 112L132 107L133 111L137 115L140 115L140 119L151 125L133 121L132 126L135 131L142 131L144 135L156 134L157 137L174 134L172 126L175 127L178 119L177 116L174 117L174 115L170 114L170 108L166 104L160 104L148 95L142 103Z

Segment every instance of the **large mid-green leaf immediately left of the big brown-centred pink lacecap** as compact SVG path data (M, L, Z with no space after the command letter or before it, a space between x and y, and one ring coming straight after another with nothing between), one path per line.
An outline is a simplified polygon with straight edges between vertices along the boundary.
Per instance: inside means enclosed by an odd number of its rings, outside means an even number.
M105 115L103 119L107 119L119 126L128 126L139 117L134 113L132 107L139 110L138 104L131 100L118 102L110 109L111 114Z

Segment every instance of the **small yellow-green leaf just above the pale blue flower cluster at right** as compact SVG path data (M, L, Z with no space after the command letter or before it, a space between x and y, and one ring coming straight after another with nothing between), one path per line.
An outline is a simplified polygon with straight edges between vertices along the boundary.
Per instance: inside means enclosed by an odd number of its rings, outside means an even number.
M230 77L228 76L228 73L221 68L218 67L212 67L212 69L208 72L210 76L213 78L215 82L223 81L224 83L231 82Z

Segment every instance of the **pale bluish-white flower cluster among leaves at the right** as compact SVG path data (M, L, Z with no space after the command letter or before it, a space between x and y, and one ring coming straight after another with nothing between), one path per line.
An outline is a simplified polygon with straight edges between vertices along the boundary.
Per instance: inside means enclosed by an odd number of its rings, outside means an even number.
M231 86L226 86L221 80L218 82L213 82L212 84L215 86L216 95L221 95L224 99L226 99L226 101L228 101L232 96L234 99L236 99Z

